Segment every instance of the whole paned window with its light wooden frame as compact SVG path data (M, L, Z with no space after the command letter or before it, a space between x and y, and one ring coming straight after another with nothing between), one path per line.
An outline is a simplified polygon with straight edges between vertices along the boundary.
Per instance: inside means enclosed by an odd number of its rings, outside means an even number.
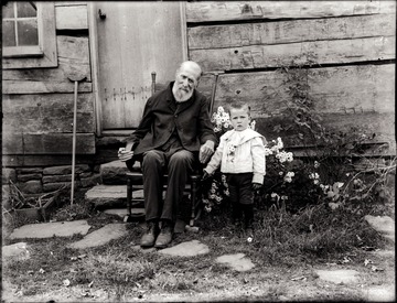
M2 4L2 57L4 69L57 66L53 3Z

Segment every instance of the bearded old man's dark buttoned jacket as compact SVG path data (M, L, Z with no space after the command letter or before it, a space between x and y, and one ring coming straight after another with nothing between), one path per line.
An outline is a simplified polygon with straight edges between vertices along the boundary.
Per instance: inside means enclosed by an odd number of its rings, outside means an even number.
M173 84L148 99L137 130L127 139L133 142L135 155L163 145L175 129L182 147L189 151L197 152L207 140L217 143L207 98L194 89L192 97L176 110Z

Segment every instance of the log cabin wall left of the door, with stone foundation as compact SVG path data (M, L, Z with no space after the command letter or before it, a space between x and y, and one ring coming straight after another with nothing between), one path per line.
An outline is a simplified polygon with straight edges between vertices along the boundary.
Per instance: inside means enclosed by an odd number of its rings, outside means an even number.
M76 182L96 184L95 100L86 2L55 2L57 66L2 71L2 182L25 193L55 191L72 181L74 83L78 84ZM4 66L4 65L3 65Z

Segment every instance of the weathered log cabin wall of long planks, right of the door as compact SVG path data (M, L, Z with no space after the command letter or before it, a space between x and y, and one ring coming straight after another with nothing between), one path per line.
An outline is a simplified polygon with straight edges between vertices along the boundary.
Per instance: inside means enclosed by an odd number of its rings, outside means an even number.
M293 62L325 126L375 133L396 154L395 1L197 1L186 22L190 59L221 73L215 109L246 100L259 132L294 145L297 133L275 130L289 88L279 69ZM214 83L201 89L211 96Z

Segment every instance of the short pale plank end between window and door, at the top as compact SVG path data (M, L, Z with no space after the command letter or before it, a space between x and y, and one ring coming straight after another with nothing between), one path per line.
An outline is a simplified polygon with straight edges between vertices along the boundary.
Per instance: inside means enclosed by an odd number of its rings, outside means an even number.
M87 6L55 7L56 30L87 30Z

